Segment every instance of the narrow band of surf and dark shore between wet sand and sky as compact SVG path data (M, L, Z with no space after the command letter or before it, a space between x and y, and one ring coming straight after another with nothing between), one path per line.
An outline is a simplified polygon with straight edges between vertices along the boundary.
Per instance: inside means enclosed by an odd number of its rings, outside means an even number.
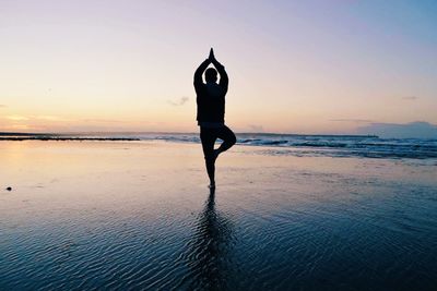
M143 134L135 136L0 136L8 142L168 142L200 144L199 134ZM220 140L217 140L220 142ZM437 140L380 140L371 137L326 136L265 136L237 135L237 146L269 147L270 155L327 156L332 158L357 157L376 159L415 159L437 161Z

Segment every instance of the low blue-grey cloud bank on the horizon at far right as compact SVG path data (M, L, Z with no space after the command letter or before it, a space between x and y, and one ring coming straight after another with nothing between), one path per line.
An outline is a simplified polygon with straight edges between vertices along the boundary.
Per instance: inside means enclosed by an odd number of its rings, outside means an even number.
M357 129L358 134L387 138L437 138L437 125L424 121L411 123L371 123Z

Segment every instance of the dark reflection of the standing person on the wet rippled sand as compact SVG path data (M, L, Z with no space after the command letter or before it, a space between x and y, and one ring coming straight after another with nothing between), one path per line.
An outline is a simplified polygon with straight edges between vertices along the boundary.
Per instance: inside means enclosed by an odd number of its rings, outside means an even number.
M215 210L214 190L200 215L197 231L191 241L188 265L194 276L191 290L226 290L232 264L228 252L231 222Z

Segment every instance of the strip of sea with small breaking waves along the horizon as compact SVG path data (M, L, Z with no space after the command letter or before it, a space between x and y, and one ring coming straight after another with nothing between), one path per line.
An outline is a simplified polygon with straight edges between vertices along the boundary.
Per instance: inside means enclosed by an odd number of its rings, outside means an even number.
M237 145L262 146L265 155L308 157L359 157L389 159L435 159L436 138L381 138L375 135L307 135L237 133ZM198 133L74 133L9 134L1 140L78 140L78 141L165 141L200 143ZM218 141L217 141L218 142Z

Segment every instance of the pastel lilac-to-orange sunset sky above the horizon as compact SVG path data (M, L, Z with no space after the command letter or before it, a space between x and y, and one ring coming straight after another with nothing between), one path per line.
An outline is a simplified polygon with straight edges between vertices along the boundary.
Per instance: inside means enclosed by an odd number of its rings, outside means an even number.
M210 47L237 132L437 124L434 0L0 0L0 131L194 132Z

